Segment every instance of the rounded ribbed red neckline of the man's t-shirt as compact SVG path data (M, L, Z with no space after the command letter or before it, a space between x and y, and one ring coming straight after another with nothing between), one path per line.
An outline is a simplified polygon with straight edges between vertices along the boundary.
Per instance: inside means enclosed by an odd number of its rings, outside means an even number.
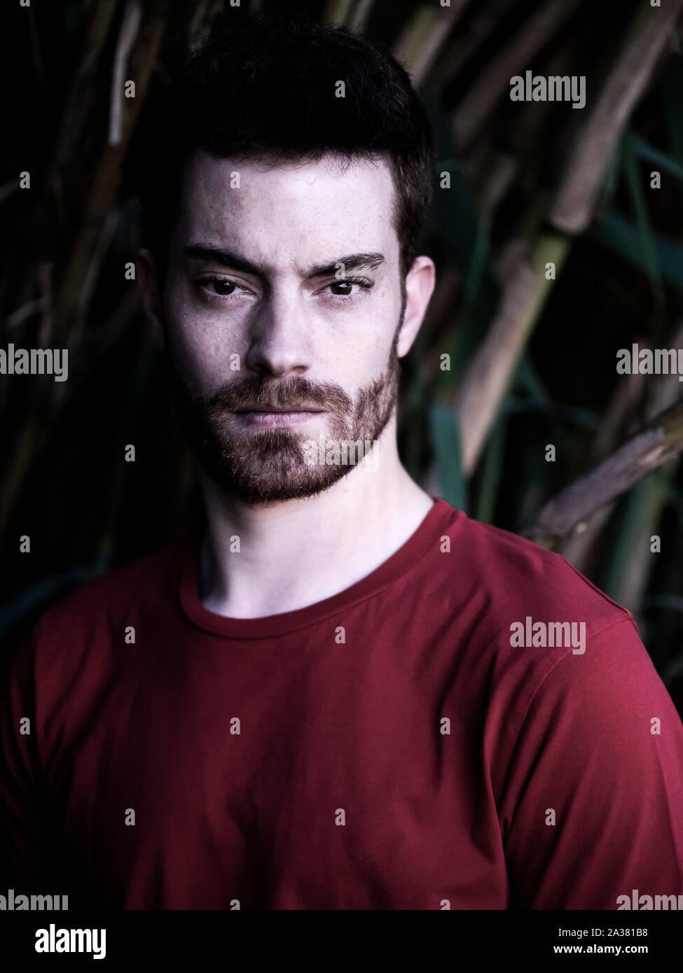
M316 601L305 608L260 618L228 618L205 608L200 600L198 587L200 542L196 537L187 537L182 544L180 562L182 609L190 621L201 629L227 638L274 638L306 629L341 609L349 608L371 595L376 595L392 584L414 567L418 560L434 550L436 539L451 523L465 516L462 511L451 507L445 500L435 496L432 499L435 501L432 509L398 551L350 588L337 595L323 598L322 601Z

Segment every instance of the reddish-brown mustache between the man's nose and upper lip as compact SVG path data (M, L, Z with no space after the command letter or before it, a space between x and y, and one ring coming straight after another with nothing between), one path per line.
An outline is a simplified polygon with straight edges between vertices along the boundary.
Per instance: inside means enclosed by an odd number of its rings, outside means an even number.
M334 413L351 413L352 399L343 388L329 381L311 381L292 376L277 379L243 378L226 382L207 400L213 411L235 412L259 406L291 409L321 409Z

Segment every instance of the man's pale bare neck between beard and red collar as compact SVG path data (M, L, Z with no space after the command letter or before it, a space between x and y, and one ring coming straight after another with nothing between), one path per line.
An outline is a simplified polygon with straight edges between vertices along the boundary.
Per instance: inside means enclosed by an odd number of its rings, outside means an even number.
M227 495L201 471L205 607L232 618L294 611L344 591L391 557L433 501L400 463L395 419L377 447L376 468L363 460L316 496L268 506Z

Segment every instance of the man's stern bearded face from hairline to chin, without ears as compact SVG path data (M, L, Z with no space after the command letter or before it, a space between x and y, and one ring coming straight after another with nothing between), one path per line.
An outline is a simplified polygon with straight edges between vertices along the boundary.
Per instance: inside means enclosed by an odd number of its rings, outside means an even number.
M374 442L393 421L393 205L385 162L188 162L163 300L171 396L228 494L312 496L354 469L323 443Z

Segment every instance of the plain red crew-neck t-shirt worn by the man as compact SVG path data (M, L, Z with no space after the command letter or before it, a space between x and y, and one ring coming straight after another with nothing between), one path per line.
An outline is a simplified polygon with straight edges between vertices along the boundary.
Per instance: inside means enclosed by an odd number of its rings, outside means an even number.
M197 558L174 541L82 585L19 650L16 893L331 910L683 893L681 720L631 615L567 560L438 500L345 591L232 619L202 605Z

